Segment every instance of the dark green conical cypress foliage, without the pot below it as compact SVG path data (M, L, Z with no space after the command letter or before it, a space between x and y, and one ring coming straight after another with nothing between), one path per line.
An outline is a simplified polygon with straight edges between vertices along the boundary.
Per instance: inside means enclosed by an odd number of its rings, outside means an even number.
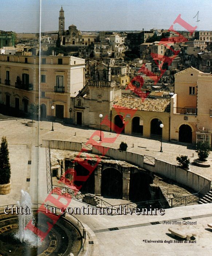
M7 184L10 180L9 150L6 137L1 138L0 147L0 184Z

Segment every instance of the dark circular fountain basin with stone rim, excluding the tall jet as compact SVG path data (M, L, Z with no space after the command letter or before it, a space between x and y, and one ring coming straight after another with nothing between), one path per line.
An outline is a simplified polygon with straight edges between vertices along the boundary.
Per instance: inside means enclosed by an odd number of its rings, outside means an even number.
M34 223L40 230L48 230L47 221L42 212L34 211ZM43 242L32 231L27 230L27 239L21 242L18 238L19 220L16 214L0 214L0 255L4 256L63 256L73 253L78 255L82 246L82 235L78 227L69 219L60 216Z

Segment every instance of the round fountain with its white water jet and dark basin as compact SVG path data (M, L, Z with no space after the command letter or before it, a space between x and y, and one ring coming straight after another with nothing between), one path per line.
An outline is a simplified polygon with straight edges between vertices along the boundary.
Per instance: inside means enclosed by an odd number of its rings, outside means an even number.
M24 228L32 220L35 226L46 232L47 223L50 222L48 215L33 210L30 195L23 190L17 206L11 206L8 206L10 210L7 214L0 214L0 255L77 255L82 245L82 236L68 219L60 217L41 241L31 230Z

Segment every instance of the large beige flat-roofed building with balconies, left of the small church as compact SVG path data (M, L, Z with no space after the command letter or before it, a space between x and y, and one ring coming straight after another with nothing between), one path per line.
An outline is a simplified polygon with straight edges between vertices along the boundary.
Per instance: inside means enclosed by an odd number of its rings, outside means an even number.
M85 60L77 57L0 56L0 103L7 113L30 112L31 103L39 103L41 117L52 115L70 122L70 97L85 83ZM40 82L40 84L39 84Z

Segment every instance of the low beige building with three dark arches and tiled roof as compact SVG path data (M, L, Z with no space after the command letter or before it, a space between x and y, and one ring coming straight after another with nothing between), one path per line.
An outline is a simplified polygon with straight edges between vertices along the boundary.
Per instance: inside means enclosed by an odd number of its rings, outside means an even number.
M111 114L111 129L122 133L169 140L170 101L116 97ZM160 128L160 124L164 128Z

